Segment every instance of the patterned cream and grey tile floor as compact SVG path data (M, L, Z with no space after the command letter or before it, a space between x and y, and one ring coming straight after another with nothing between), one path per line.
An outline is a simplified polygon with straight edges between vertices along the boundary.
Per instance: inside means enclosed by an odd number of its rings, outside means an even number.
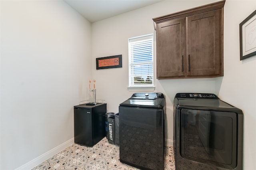
M172 146L166 147L166 167L175 170ZM139 170L119 160L119 147L103 138L93 147L72 144L32 170Z

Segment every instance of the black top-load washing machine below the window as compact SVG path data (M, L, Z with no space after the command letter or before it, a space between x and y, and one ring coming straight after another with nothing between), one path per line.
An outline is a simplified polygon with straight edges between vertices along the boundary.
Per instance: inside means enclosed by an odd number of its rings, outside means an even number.
M120 161L143 169L163 170L166 102L162 93L134 93L119 106Z

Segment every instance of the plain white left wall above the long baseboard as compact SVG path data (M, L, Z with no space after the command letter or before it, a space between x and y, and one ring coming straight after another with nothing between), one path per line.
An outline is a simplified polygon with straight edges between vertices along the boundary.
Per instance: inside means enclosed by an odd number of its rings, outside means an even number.
M91 24L63 1L1 3L1 167L15 169L74 138L88 99Z

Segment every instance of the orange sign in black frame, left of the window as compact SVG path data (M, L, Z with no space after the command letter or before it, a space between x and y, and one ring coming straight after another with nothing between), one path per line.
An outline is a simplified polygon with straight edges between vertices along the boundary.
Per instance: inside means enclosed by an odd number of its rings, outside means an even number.
M122 55L96 58L96 69L110 69L122 67Z

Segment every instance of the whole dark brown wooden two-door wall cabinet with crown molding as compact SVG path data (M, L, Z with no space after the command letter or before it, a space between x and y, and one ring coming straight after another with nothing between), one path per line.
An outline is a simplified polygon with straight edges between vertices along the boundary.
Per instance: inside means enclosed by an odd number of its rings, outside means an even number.
M224 4L153 18L157 79L223 76Z

